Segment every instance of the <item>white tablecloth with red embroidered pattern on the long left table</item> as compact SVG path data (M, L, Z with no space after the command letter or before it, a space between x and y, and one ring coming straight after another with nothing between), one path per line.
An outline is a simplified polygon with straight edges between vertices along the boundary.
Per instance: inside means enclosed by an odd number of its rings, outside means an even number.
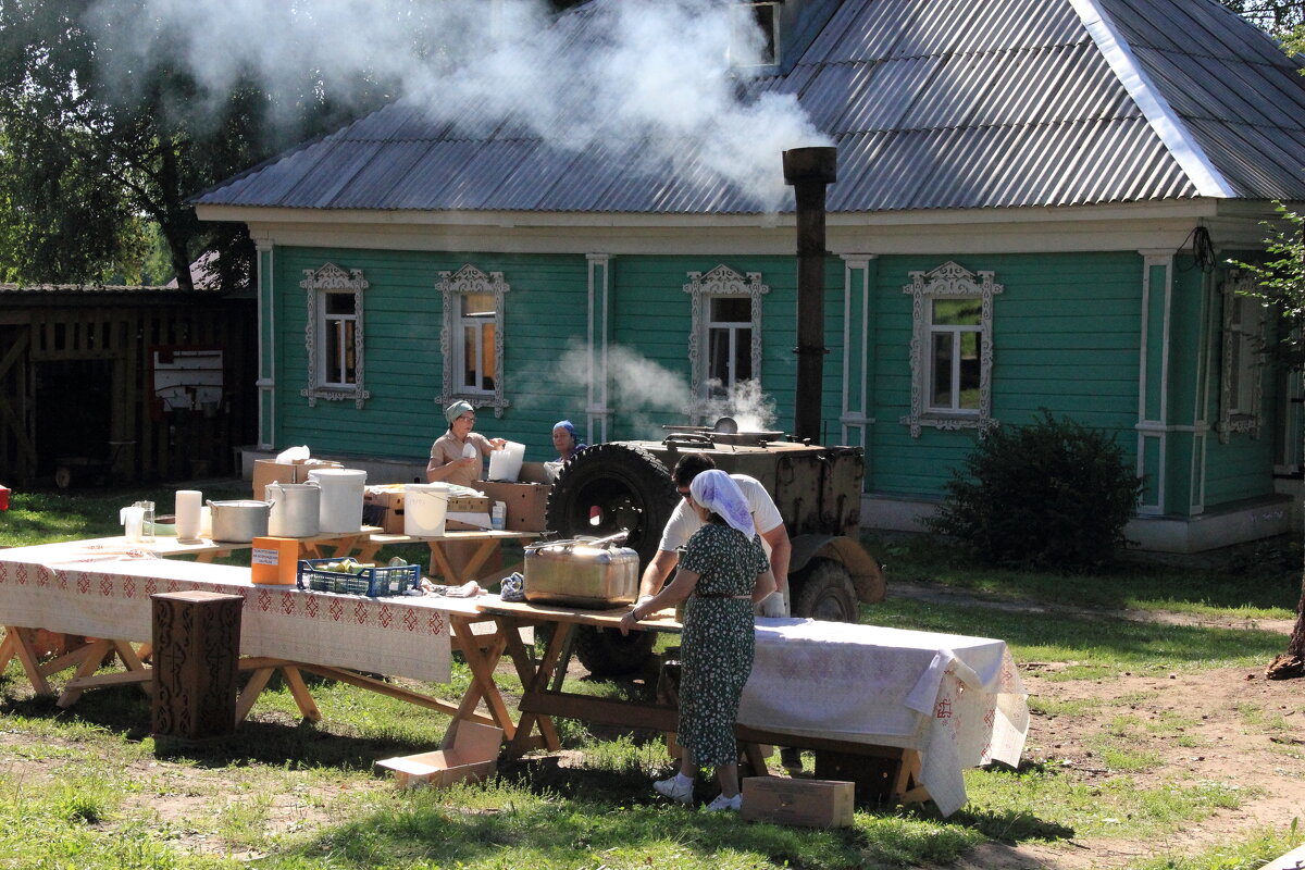
M128 547L43 544L0 550L0 623L149 640L150 596L205 590L244 597L240 652L449 682L448 612L438 597L328 595L254 586L249 569L154 558Z

